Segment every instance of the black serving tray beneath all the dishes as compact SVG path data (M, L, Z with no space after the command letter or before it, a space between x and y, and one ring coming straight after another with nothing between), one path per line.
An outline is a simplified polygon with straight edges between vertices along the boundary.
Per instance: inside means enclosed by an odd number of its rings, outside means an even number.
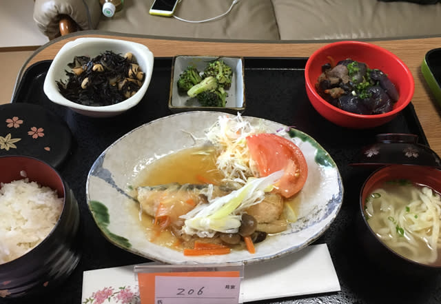
M353 168L349 163L356 159L362 146L375 141L378 133L417 134L418 143L428 145L413 105L410 103L395 119L378 128L349 130L338 127L323 119L309 103L305 91L306 61L305 58L246 57L247 106L243 115L277 121L302 130L314 137L336 161L345 188L344 201L334 223L315 243L327 243L341 292L255 303L440 303L440 275L418 280L399 272L387 272L365 256L356 234L356 225L361 221L358 195L363 181L373 169ZM154 60L152 81L139 105L120 116L106 119L82 116L49 101L43 92L43 82L50 63L40 61L25 71L12 102L43 105L61 116L72 131L72 151L59 172L69 183L80 205L83 257L72 276L57 291L38 301L33 298L28 303L81 303L83 271L148 261L121 250L101 235L88 211L85 183L90 167L107 146L139 125L172 114L167 106L172 58ZM26 301L22 299L19 303Z

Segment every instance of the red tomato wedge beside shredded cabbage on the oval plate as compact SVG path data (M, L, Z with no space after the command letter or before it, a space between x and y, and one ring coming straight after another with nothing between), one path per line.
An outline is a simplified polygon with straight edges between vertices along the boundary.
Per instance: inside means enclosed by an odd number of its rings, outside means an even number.
M282 136L260 133L247 136L250 156L256 162L260 177L284 170L276 188L286 198L293 196L305 185L308 166L298 146Z

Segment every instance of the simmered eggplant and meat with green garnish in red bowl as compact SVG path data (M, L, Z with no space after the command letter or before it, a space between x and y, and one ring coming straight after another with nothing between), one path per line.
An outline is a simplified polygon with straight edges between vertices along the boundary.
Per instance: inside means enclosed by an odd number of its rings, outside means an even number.
M360 61L345 59L335 64L329 59L316 83L323 99L356 114L382 114L393 109L399 94L387 74Z

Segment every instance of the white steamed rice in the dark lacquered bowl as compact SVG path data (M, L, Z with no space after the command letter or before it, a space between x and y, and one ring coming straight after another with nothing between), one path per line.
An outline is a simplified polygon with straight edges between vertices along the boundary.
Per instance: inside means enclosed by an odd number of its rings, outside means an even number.
M37 246L57 223L63 199L28 179L0 183L0 264Z

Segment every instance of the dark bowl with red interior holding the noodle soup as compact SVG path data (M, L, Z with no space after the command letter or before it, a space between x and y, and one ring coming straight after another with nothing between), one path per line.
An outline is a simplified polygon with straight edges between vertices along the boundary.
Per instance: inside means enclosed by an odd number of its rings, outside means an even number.
M436 192L441 192L441 170L422 165L389 165L373 172L362 185L360 192L360 216L358 234L362 249L367 256L384 269L392 272L425 275L441 274L441 266L427 265L412 261L394 252L385 245L373 232L365 217L365 202L369 194L384 182L406 179L413 183L427 185Z

